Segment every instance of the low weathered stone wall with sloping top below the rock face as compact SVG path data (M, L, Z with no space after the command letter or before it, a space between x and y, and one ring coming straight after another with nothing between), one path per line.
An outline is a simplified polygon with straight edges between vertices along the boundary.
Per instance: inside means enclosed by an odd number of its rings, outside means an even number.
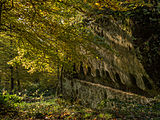
M83 105L97 108L106 99L118 99L126 102L146 104L150 100L133 93L123 92L111 87L86 82L78 79L63 80L63 96L65 98L79 100Z

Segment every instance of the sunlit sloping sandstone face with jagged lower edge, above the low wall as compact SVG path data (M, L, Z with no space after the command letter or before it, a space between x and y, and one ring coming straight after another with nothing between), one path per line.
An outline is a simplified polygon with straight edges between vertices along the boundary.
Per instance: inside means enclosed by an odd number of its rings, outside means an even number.
M124 30L119 21L108 18L91 23L90 27L102 38L95 40L99 42L95 48L103 59L84 62L79 71L84 73L82 79L146 96L157 95L153 78L137 57L132 32Z

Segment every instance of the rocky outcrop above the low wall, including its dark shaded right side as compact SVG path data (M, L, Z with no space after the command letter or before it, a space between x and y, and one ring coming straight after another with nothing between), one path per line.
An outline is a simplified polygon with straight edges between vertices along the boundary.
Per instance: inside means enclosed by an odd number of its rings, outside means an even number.
M127 27L104 16L90 23L98 57L81 64L79 79L153 97L159 94L159 37L155 25L133 18L126 19Z

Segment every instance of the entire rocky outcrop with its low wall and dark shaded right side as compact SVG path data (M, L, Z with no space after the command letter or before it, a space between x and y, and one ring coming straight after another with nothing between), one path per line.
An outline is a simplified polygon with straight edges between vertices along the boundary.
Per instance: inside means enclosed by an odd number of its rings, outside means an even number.
M62 81L65 98L97 108L106 99L146 104L160 93L160 25L150 21L152 10L141 13L124 18L127 26L105 15L89 24L97 57L84 60L73 78Z

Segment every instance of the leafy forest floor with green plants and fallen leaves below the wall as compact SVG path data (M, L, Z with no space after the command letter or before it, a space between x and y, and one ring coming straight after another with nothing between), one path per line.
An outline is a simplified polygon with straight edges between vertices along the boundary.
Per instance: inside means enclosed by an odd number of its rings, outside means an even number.
M21 99L16 95L8 95L5 99L11 100L7 104L12 105L1 105L1 120L160 120L158 101L147 105L116 101L114 107L102 109L105 106L103 101L93 110L78 102L71 103L53 96Z

